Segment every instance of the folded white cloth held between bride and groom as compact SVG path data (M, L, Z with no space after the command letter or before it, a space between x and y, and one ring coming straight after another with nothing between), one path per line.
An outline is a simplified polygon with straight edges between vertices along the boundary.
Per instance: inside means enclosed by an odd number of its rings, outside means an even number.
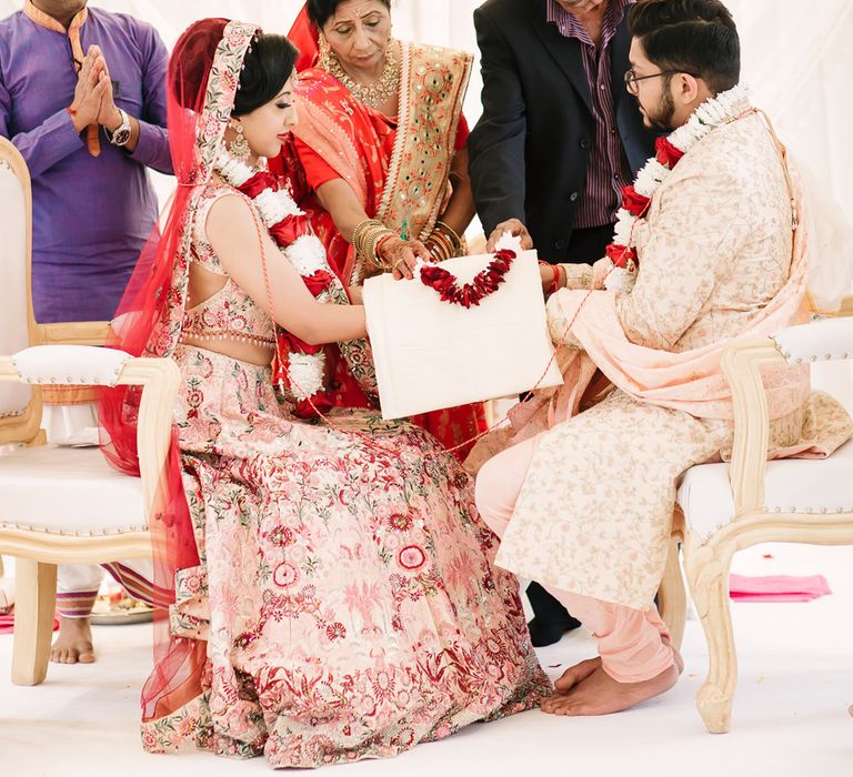
M465 309L442 302L420 278L364 283L383 418L493 400L562 382L548 334L535 251L518 251L495 292ZM441 262L462 285L493 256Z

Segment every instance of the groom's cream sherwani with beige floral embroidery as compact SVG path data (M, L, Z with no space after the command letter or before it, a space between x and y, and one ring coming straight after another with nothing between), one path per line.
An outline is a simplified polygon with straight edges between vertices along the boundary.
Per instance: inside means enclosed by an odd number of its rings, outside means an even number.
M780 153L762 119L713 130L663 182L638 230L638 281L615 301L628 339L680 353L743 334L785 285L791 224ZM602 269L566 265L570 287L600 283ZM552 296L549 322L558 342L576 347L563 307L571 293ZM813 395L773 423L771 444L812 440L833 450L850 432L837 403ZM546 586L648 608L663 573L678 478L725 456L731 437L729 421L615 389L541 435L498 564Z

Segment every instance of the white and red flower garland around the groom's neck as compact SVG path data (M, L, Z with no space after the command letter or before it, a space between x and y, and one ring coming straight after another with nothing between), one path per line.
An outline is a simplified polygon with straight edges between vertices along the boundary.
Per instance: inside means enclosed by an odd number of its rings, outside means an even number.
M632 186L622 189L622 208L616 214L613 242L608 246L611 270L604 285L611 291L630 291L636 281L639 261L634 235L645 223L652 196L666 180L679 161L709 132L736 119L744 110L749 97L740 85L705 100L686 124L669 138L655 142L652 157L636 175Z

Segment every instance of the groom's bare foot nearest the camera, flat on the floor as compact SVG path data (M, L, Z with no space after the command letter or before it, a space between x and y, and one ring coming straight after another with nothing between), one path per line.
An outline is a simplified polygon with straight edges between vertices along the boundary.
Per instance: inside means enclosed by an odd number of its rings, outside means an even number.
M642 683L616 683L600 666L570 693L545 699L542 710L550 715L610 715L660 696L678 680L675 664Z

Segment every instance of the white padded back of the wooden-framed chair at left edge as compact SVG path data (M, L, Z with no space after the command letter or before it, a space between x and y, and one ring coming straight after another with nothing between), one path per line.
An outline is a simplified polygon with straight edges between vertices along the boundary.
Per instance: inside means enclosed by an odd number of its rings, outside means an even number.
M0 353L33 344L30 304L30 176L18 150L0 138ZM32 389L0 384L0 418L21 417Z

